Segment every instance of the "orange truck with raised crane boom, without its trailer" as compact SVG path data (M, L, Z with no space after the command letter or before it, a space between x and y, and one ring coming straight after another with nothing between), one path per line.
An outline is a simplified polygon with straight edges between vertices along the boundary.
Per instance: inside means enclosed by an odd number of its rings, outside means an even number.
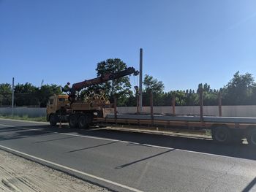
M62 88L68 94L50 96L46 107L47 120L51 126L56 123L69 123L70 128L88 128L95 118L105 118L106 114L113 112L112 104L108 101L104 91L87 91L85 99L80 99L78 92L83 88L90 88L110 80L116 80L129 74L139 74L133 67L121 72L113 72L100 77L77 82L69 90Z

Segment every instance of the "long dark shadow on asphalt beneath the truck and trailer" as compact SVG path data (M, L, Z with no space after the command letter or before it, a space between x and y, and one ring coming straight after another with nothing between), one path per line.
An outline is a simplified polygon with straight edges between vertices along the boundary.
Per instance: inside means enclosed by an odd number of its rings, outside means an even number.
M29 128L38 129L38 131L31 130ZM10 130L12 130L13 133ZM10 131L10 132L7 132L7 131ZM4 134L5 132L7 134ZM246 158L246 159L256 160L256 153L255 153L256 150L252 149L247 145L219 145L211 140L206 140L206 139L173 137L173 136L158 135L158 134L135 133L135 132L116 131L116 130L97 129L97 128L79 129L79 128L69 128L67 126L62 126L62 128L58 128L58 127L51 127L51 126L45 126L45 125L13 126L9 128L4 127L4 128L0 128L0 141L6 140L6 139L22 139L26 137L39 137L47 134L56 134L54 132L80 134L80 135L90 136L90 137L101 137L105 139L116 139L116 140L122 140L127 142L135 142L141 145L157 145L161 147L170 147L172 149L189 150L189 151L195 151L200 153L211 153L215 155L225 155L225 156L236 157L236 158ZM68 137L64 139L68 139ZM50 141L53 141L53 140L50 140ZM42 142L48 142L48 140L45 140ZM106 143L104 145L109 145L109 143ZM86 148L78 149L78 150L86 150ZM73 151L69 151L69 153L72 153L72 152ZM123 166L127 166L127 165L123 165Z

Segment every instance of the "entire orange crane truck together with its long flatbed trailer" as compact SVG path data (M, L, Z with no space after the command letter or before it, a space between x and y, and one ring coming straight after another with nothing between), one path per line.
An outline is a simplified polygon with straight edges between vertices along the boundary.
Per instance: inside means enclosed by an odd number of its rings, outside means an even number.
M200 116L196 115L155 115L153 103L151 114L118 114L116 104L110 104L104 91L89 92L86 100L81 100L76 92L91 85L99 85L129 74L138 75L138 71L129 67L122 72L109 73L92 80L72 85L68 95L51 96L47 106L47 120L51 126L59 122L68 122L70 128L88 128L93 123L121 123L137 126L164 126L211 130L215 142L227 144L241 142L256 147L256 118L211 117L203 115L203 102L200 104ZM99 92L99 93L95 93ZM201 101L203 101L202 97ZM153 100L153 99L151 99Z

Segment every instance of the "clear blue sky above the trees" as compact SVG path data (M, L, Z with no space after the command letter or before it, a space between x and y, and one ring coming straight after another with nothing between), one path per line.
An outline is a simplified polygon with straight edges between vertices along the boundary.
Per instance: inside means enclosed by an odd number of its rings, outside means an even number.
M165 91L255 77L256 1L0 0L0 83L79 82L107 58L138 69L140 47Z

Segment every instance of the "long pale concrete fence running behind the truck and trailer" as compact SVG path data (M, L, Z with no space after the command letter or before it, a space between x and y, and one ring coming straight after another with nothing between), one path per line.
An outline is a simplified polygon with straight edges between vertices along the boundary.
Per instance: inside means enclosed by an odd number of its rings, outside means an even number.
M117 107L118 113L135 113L136 107ZM200 115L199 106L178 106L176 114ZM150 113L150 107L143 107L143 112ZM154 107L154 113L172 113L171 106ZM0 115L12 115L12 108L0 107ZM46 108L37 107L15 107L14 115L28 115L29 117L41 117L46 115ZM219 115L218 106L204 106L203 115ZM256 118L256 105L222 106L223 117L249 117Z

